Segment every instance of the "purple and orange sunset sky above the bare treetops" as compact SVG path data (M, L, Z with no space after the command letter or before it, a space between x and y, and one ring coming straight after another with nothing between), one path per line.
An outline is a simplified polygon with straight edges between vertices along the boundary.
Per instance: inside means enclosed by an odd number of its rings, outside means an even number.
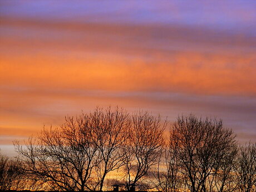
M96 106L256 142L256 1L0 1L0 149Z

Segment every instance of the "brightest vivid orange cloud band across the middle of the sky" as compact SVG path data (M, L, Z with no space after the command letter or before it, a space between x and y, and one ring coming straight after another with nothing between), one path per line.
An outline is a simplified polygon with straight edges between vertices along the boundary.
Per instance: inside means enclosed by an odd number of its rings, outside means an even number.
M126 63L121 58L114 62L104 58L66 61L46 55L1 58L2 86L247 96L256 93L256 67L242 58L207 58L190 53L174 56L175 62L169 63Z

